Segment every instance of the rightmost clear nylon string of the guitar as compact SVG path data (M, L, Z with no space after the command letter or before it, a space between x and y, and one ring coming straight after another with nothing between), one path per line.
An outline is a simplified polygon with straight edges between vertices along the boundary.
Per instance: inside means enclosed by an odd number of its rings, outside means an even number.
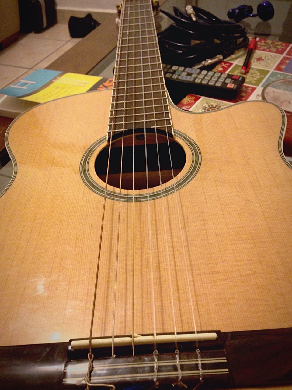
M152 23L154 24L154 18L152 19ZM156 30L155 24L153 26ZM157 42L157 47L158 47L158 39L157 35L155 35L155 39ZM162 69L162 64L160 62L160 69L159 66L157 66L158 73L160 71L160 74L163 74L163 69ZM164 82L164 78L162 78ZM166 90L165 82L164 82L164 90ZM162 89L161 89L161 95L162 95ZM163 97L163 96L162 96ZM166 119L165 119L165 125L166 125ZM187 261L186 261L186 251L185 251L185 243L184 243L184 238L183 238L183 230L182 230L182 225L181 225L181 217L179 213L179 204L178 204L178 195L177 195L177 190L176 190L176 184L174 180L174 172L173 172L173 165L172 165L172 157L171 157L171 150L170 150L170 145L169 145L169 137L168 137L168 132L166 131L166 138L167 138L167 144L168 144L168 150L169 150L169 159L171 163L171 172L172 172L172 181L173 181L173 186L174 186L174 196L176 199L176 211L177 211L177 217L178 217L178 225L179 225L179 234L180 234L180 239L181 239L181 247L183 250L183 259L184 259L184 264L185 264L185 273L186 273L186 280L187 280L187 285L188 285L188 294L189 294L189 299L190 299L190 306L191 306L191 312L192 312L192 321L193 321L193 326L194 326L194 331L195 334L197 334L197 326L195 322L195 314L193 310L193 299L192 299L192 291L190 288L190 277L189 277L189 272L188 272L188 266L187 266ZM159 161L159 160L158 160ZM196 341L196 346L197 346L197 356L198 356L198 366L199 366L199 372L200 372L200 381L202 382L202 364L201 364L201 355L200 355L200 350L199 350L199 344L198 341ZM176 352L179 353L177 344L176 344ZM179 380L180 381L180 380Z

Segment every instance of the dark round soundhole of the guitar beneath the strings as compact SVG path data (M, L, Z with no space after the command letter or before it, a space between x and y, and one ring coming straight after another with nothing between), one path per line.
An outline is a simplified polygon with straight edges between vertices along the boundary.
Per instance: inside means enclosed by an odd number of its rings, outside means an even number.
M156 132L155 129L146 129L145 140L144 129L135 129L134 137L133 131L129 130L124 132L124 137L121 137L121 134L112 137L111 148L108 144L97 155L95 172L102 181L106 183L109 159L107 183L116 188L121 185L124 190L132 190L133 143L135 190L147 188L147 176L149 188L160 186L160 181L161 184L167 183L185 166L185 151L171 134L166 135L165 131L159 129Z

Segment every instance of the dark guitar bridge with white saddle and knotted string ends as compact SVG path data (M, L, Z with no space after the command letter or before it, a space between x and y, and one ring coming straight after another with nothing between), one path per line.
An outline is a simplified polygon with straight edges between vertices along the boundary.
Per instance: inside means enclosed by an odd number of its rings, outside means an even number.
M114 385L117 389L129 387L133 384L144 388L151 388L155 384L178 385L194 388L201 377L204 383L211 385L224 386L229 383L229 369L224 348L222 334L219 331L206 333L197 333L200 335L211 334L213 340L199 341L199 355L197 351L197 340L178 341L178 350L175 351L173 342L160 342L157 347L159 353L154 356L153 344L136 344L135 356L132 356L132 345L115 346L115 356L111 357L112 350L110 346L93 347L94 368L91 372L91 383ZM186 334L183 334L185 336ZM192 333L188 334L192 336ZM214 337L215 335L215 337ZM167 335L157 335L158 340L163 340ZM184 337L178 334L177 339ZM150 336L139 336L142 339ZM153 337L153 336L152 336ZM162 339L160 339L162 337ZM172 336L173 337L173 336ZM130 339L123 336L117 339ZM204 338L204 337L203 337ZM205 337L206 338L206 337ZM134 338L134 340L137 337ZM106 338L93 339L93 345L96 340L110 340ZM88 348L73 349L77 340L70 340L68 349L68 358L65 365L63 386L64 388L76 384L84 376L88 369ZM87 346L88 340L83 340L84 346ZM100 343L102 345L102 343ZM178 353L179 351L179 353ZM98 356L98 357L97 357ZM178 357L179 356L179 357Z

